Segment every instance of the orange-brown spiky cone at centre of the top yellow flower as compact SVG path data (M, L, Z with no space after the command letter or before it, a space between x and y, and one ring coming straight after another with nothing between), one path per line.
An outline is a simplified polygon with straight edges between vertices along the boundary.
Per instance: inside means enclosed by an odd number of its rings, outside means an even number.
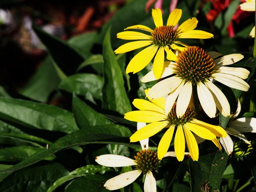
M159 47L169 46L177 39L177 34L173 30L173 26L156 27L151 35L153 44Z

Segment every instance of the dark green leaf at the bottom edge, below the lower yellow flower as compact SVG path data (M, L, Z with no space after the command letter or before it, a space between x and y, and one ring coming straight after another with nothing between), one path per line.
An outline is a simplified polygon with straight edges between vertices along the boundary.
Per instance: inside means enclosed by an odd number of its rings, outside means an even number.
M227 164L228 155L224 151L212 152L200 156L198 161L189 159L189 172L191 180L191 192L201 192L200 187L207 182L213 190L218 190L221 184L223 172Z

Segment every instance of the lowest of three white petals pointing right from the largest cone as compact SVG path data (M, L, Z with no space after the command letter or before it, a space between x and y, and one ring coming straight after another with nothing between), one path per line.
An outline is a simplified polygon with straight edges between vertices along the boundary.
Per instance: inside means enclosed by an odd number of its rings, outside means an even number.
M248 91L250 88L250 85L246 81L233 75L215 73L212 75L212 78L234 89Z

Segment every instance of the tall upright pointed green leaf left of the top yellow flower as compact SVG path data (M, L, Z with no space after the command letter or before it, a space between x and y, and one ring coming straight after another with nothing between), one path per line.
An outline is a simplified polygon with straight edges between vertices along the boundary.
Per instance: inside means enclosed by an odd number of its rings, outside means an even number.
M131 104L125 91L122 71L111 47L110 30L108 29L103 42L103 58L105 61L103 101L106 108L125 114L131 111Z

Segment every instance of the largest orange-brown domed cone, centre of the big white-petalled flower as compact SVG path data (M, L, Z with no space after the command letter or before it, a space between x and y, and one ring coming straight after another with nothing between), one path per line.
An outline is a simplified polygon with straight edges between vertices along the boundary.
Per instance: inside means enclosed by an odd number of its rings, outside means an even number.
M215 72L213 59L200 47L188 47L177 56L175 62L174 73L186 82L191 81L194 85L209 79Z

